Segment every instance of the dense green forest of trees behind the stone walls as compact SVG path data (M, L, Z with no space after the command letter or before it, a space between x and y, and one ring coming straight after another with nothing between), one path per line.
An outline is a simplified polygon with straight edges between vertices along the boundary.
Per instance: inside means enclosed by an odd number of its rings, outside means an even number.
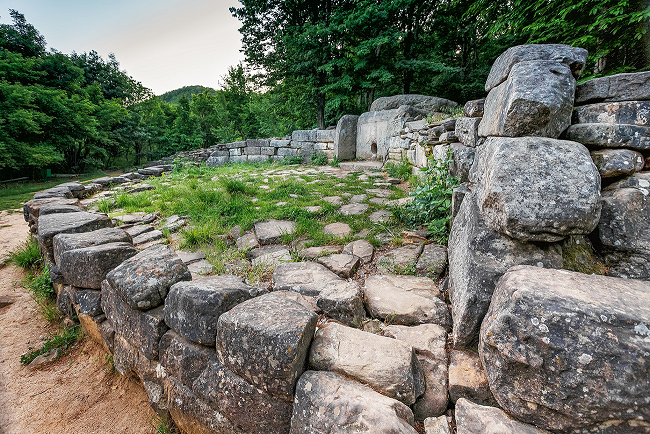
M19 11L0 25L0 180L84 173L177 151L282 137L381 96L485 96L524 43L589 50L582 79L650 69L648 0L240 0L246 61L217 90L155 96L114 55L64 54Z

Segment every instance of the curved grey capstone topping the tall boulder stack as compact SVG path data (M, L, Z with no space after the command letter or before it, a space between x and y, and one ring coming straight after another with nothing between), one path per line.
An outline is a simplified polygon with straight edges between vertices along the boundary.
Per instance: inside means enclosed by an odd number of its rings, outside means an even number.
M522 62L563 63L577 79L587 62L587 50L563 44L517 45L504 51L492 64L490 74L485 82L485 91L489 92L512 75L512 70ZM487 109L486 109L487 111Z

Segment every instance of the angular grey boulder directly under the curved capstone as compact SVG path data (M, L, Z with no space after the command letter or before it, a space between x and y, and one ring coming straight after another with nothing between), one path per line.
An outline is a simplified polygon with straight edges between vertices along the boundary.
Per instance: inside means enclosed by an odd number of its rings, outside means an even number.
M478 134L559 137L571 125L575 84L563 63L515 64L508 79L488 94Z

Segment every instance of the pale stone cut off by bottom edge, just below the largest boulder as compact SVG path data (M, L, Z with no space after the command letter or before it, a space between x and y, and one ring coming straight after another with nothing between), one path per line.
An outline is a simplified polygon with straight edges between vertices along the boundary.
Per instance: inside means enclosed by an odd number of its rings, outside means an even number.
M456 403L456 429L459 434L549 434L513 419L499 408L475 404L464 398Z

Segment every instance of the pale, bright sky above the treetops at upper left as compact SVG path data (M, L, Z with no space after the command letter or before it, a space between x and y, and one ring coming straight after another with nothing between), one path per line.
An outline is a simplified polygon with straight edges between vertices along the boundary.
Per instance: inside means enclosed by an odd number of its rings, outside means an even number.
M189 85L219 88L229 66L244 60L236 0L8 0L45 37L69 54L115 53L120 68L156 95Z

